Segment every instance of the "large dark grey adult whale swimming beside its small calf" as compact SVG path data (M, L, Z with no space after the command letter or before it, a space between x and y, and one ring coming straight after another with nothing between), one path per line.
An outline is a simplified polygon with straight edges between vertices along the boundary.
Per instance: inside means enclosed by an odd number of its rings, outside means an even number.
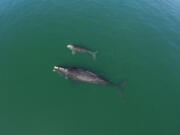
M77 67L57 67L55 66L53 71L64 75L66 78L71 80L76 80L80 82L90 83L90 84L101 84L109 85L118 88L120 95L122 96L122 87L125 85L125 82L120 85L115 85L114 83L104 79L103 77L98 76L97 74L88 71L86 69L77 68Z

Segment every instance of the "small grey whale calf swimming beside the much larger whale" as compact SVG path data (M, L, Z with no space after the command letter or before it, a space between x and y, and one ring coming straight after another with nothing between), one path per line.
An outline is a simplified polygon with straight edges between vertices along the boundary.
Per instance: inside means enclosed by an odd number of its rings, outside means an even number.
M97 51L93 52L88 49L85 49L85 48L82 48L79 46L75 46L75 45L67 45L67 48L69 48L72 51L72 54L75 54L76 52L88 53L88 54L92 55L93 59L96 58Z

